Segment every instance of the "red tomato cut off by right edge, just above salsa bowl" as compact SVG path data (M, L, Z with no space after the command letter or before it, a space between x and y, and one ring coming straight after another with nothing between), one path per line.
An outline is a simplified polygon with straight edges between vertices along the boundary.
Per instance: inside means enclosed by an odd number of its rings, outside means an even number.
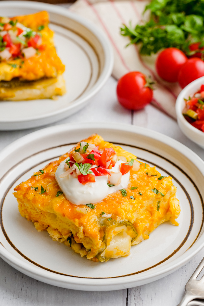
M201 76L204 76L204 62L200 58L188 59L179 72L178 81L180 87L186 87L186 85Z

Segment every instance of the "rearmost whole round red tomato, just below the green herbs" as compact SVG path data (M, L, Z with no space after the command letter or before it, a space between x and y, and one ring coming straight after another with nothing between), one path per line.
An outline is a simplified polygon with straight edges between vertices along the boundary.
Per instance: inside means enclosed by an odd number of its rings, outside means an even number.
M157 73L167 82L177 82L179 71L186 61L187 57L184 52L177 48L167 48L157 57Z

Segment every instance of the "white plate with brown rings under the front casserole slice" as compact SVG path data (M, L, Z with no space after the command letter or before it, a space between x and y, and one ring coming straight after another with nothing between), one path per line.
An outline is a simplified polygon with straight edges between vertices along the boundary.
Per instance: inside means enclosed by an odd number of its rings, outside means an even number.
M95 263L81 258L23 218L13 188L33 172L93 133L119 144L172 176L180 200L179 226L161 224L127 257ZM76 123L28 134L0 153L0 256L17 270L42 282L78 290L116 290L154 281L187 263L204 246L204 162L170 137L133 125Z

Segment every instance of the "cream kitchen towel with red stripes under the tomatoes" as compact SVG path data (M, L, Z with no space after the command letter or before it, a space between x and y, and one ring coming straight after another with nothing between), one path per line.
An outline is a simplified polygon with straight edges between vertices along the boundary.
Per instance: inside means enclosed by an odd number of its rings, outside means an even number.
M119 79L129 71L140 71L157 81L152 104L172 118L176 118L175 102L180 92L177 83L168 83L157 75L153 56L141 56L136 45L130 45L128 37L120 35L122 24L132 22L135 26L141 20L148 18L148 12L143 15L147 1L113 1L113 0L77 0L70 10L86 17L109 38L114 52L113 77Z

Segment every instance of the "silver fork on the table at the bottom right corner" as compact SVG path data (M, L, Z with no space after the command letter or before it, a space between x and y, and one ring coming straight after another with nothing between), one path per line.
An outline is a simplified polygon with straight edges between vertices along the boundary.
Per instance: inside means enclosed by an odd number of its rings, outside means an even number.
M204 299L204 275L199 281L196 280L196 278L201 273L203 268L204 268L204 257L199 263L198 267L196 268L195 272L193 273L189 281L187 282L187 284L185 285L185 295L177 306L187 306L187 305L204 306L203 302L193 301L194 299Z

